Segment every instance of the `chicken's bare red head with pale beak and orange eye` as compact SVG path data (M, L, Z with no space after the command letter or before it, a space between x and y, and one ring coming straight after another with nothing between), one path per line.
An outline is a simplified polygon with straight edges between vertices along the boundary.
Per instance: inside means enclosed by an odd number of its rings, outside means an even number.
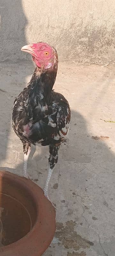
M53 48L46 43L28 44L21 51L29 52L39 68L50 68L54 64Z

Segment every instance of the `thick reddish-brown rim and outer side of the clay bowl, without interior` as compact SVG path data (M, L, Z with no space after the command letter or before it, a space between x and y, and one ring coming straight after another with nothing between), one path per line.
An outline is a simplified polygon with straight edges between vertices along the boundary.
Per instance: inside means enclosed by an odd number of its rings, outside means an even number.
M23 186L31 194L36 206L36 221L32 229L20 240L0 248L1 256L41 256L49 247L56 230L56 212L44 196L42 188L33 181L11 172L0 170L1 177Z

